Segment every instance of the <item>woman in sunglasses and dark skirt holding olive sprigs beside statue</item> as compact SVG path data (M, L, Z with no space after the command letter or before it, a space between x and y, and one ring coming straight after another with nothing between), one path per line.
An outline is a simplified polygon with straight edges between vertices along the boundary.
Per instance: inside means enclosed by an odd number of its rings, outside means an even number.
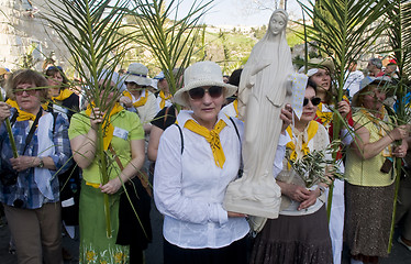
M330 142L325 128L314 121L316 106L321 101L315 96L315 89L316 85L309 81L301 118L296 118L295 125L288 127L286 136L280 138L282 156L286 147L289 153L284 166L281 162L280 166L276 165L281 155L276 154L275 160L274 176L281 188L281 211L278 219L267 220L258 233L251 263L333 263L324 206L326 185L320 183L308 189L298 173L288 165L288 160L298 161L307 153L323 151Z

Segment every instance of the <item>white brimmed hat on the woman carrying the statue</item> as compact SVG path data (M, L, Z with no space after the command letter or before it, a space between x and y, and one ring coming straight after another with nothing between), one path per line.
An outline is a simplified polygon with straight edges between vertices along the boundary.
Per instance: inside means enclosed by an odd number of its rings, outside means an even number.
M213 62L195 63L185 70L185 86L179 89L174 99L177 103L188 107L184 94L197 87L203 86L219 86L224 88L224 96L231 97L237 90L236 86L225 84L223 81L223 74L218 64Z

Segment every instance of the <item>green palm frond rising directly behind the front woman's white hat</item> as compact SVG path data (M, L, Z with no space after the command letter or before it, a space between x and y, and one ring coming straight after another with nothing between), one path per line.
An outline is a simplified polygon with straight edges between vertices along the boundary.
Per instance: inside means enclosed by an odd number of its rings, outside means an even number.
M167 3L165 0L131 2L133 8L130 14L136 24L130 26L137 33L132 38L154 54L174 95L182 85L179 77L190 64L202 29L200 19L210 9L212 0L206 3L195 0L182 18L179 18L182 0L170 0ZM175 68L179 68L177 75L173 74Z

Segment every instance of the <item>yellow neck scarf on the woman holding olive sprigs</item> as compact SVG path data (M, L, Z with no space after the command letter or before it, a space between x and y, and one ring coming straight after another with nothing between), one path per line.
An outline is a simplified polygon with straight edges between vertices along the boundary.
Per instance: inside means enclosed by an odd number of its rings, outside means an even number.
M287 148L291 150L291 154L290 154L290 160L291 161L297 161L297 158L299 157L299 153L302 154L302 156L307 155L310 153L310 148L308 147L308 143L312 140L312 138L314 138L314 135L316 134L316 131L319 130L319 123L316 121L311 121L307 128L307 138L308 139L304 139L304 131L301 132L297 139L295 139L295 136L292 135L292 130L291 130L291 127L289 125L287 128L287 133L290 135L290 138L292 139L290 142L287 143ZM296 146L297 144L297 146ZM290 163L288 163L288 168L290 168L291 165Z

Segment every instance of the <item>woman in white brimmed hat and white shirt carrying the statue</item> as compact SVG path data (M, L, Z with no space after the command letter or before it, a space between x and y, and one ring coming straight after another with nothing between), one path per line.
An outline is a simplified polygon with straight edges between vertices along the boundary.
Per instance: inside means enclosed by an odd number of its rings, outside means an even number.
M240 169L243 124L220 110L236 87L223 82L212 62L191 65L184 80L174 98L191 111L180 111L178 124L164 132L154 174L154 199L165 215L164 263L246 263L245 216L222 207Z

